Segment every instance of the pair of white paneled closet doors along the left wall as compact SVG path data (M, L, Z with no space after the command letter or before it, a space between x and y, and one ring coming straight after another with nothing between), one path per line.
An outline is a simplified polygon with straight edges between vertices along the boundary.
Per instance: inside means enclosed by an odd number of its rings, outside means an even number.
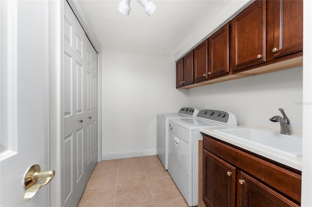
M77 206L97 163L97 53L64 3L63 198Z

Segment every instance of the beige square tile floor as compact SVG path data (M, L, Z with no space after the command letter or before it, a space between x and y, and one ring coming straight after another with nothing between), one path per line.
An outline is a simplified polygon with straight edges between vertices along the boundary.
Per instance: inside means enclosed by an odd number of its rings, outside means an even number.
M78 207L188 207L157 155L97 164Z

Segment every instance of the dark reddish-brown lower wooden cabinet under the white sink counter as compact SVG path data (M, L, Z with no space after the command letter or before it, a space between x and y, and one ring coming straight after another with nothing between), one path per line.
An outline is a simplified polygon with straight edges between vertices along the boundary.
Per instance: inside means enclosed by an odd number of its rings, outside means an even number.
M301 174L294 171L203 136L203 200L209 207L299 207Z

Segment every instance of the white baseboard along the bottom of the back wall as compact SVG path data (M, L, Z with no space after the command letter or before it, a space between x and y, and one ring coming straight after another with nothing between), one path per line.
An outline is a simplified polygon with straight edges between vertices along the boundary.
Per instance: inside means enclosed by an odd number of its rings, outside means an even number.
M109 154L102 154L102 160L111 160L111 159L123 159L123 158L130 158L136 156L150 156L156 155L156 149L150 150L139 150L139 151L132 151L132 152L123 152L123 153L109 153Z

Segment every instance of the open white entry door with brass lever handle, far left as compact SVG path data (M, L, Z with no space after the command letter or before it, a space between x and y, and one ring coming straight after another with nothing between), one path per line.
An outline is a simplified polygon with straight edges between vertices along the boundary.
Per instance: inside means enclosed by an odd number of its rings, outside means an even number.
M46 1L0 1L1 207L48 206L48 186L23 202L27 169L49 170L46 10Z

